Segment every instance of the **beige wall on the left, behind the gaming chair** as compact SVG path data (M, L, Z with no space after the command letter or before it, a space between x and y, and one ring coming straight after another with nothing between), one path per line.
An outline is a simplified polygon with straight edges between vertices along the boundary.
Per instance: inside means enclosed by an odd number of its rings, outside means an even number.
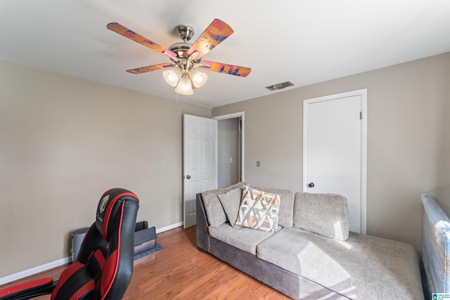
M0 61L0 278L70 256L108 188L183 221L182 115L209 108Z

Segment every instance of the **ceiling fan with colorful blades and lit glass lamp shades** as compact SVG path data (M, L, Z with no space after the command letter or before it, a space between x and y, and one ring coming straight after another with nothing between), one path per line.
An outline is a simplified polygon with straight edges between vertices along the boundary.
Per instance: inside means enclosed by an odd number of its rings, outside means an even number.
M138 67L127 70L127 72L141 74L167 69L162 72L162 76L169 85L176 87L176 93L192 95L193 89L203 86L207 80L207 75L200 72L200 70L209 70L239 77L247 77L251 71L250 67L240 67L238 65L202 60L206 53L210 52L214 47L224 41L224 39L233 34L233 29L226 22L219 19L214 19L193 44L188 43L194 33L193 27L178 25L176 31L183 41L175 43L169 46L169 48L158 45L154 41L150 41L146 37L141 36L141 34L137 34L117 22L109 23L106 27L108 30L112 30L143 46L168 56L172 60L172 63Z

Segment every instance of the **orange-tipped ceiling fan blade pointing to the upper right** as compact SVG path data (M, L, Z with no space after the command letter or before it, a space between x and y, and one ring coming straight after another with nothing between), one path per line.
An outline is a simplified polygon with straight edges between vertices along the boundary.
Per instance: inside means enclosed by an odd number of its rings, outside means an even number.
M207 29L200 34L200 37L198 37L194 44L192 44L191 48L189 48L187 52L187 55L191 56L192 53L197 51L198 55L195 59L199 60L232 33L233 29L231 29L226 22L219 19L214 19L210 26L208 26Z

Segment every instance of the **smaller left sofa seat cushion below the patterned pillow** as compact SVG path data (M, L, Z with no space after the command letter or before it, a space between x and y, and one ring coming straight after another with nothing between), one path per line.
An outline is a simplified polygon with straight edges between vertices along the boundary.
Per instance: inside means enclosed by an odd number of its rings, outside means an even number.
M208 232L211 237L253 255L256 255L257 245L274 234L246 227L236 229L229 223L223 223L216 228L210 226Z

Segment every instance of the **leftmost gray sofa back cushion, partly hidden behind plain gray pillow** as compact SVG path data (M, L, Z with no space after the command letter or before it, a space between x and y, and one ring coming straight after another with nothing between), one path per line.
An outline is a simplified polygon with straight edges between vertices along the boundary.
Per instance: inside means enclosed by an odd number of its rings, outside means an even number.
M216 190L207 190L203 192L202 200L205 207L206 217L211 227L219 227L226 222L226 215L222 204L220 203L218 195L226 194L230 190L240 188L245 185L245 182L236 183L228 188L218 188ZM235 220L236 221L236 220Z

